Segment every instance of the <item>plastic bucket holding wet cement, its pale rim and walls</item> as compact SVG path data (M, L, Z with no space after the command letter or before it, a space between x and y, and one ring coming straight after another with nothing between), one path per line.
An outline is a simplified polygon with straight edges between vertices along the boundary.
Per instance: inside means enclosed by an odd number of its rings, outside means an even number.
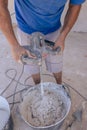
M66 109L66 113L64 114L64 116L58 121L58 122L55 122L51 125L48 125L48 126L34 126L34 125L31 125L27 120L26 118L24 117L23 113L21 112L22 111L22 105L24 103L24 101L26 99L29 99L29 95L39 89L40 90L40 84L39 85L35 85L34 87L30 88L27 93L25 94L25 96L23 97L23 101L21 102L20 104L20 114L21 114L21 117L22 119L24 120L24 122L28 125L28 127L30 128L30 130L58 130L62 123L64 122L65 118L67 117L69 111L70 111L70 107L71 107L71 99L70 99L70 96L69 94L67 93L66 89L62 86L62 85L58 85L58 84L55 84L55 83L52 83L52 82L45 82L43 83L43 87L44 87L44 90L45 89L50 89L51 91L59 94L61 97L62 97L62 101L65 105L65 109ZM28 102L27 102L28 103ZM24 107L24 106L23 106ZM24 110L25 111L25 110Z

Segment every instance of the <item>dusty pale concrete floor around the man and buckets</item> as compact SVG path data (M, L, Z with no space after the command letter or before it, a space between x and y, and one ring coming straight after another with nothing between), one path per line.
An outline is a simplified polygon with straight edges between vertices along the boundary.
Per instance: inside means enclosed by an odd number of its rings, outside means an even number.
M11 82L11 79L6 76L6 71L10 69L10 71L7 73L9 76L14 78L15 71L13 69L16 69L17 75L15 77L15 80L18 79L18 77L21 74L22 71L22 65L16 63L11 56L10 47L8 45L8 42L6 38L3 36L3 34L0 34L0 92L2 92L8 84ZM44 73L47 73L45 71ZM20 82L24 83L25 79L28 77L28 74L23 73ZM54 78L49 76L44 76L44 81L52 81L55 82ZM69 85L69 87L73 87L75 90L77 90L84 98L87 99L87 33L76 33L71 32L65 43L65 50L64 50L64 65L63 65L63 81ZM27 84L33 85L33 81L30 78L27 80ZM14 89L16 86L16 82L13 81L12 84L9 86L9 88L5 91L3 94L4 97L8 97L9 95L14 93ZM18 84L17 91L23 89L24 86L22 84ZM77 110L79 107L82 107L82 103L85 101L78 93L76 93L73 89L70 88L70 95L72 100L72 107L69 116L67 117L67 120L65 121L65 124L70 120L71 114ZM16 95L16 101L19 100L20 95ZM8 102L11 103L13 101L13 98L8 98ZM87 113L86 113L87 114ZM15 117L15 116L14 116ZM19 130L19 124L21 124L21 121L18 122L18 118L14 118L16 123L15 124L15 130ZM87 121L87 120L86 120ZM85 120L84 120L85 122ZM75 122L76 123L76 122ZM64 127L65 127L64 124ZM72 125L72 128L70 130L77 130L81 128L81 123ZM26 127L26 126L25 126ZM77 128L78 127L78 128ZM21 127L21 130L24 128ZM27 130L28 128L26 128ZM87 130L87 123L84 125L84 130ZM63 128L62 128L63 130ZM81 128L82 130L82 128Z

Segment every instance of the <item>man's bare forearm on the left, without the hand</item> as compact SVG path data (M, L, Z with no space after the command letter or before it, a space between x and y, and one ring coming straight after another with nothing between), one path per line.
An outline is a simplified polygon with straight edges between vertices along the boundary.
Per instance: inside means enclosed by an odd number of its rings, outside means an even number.
M11 46L15 46L18 44L13 31L10 13L8 11L7 4L4 4L3 2L0 3L0 29L8 39Z

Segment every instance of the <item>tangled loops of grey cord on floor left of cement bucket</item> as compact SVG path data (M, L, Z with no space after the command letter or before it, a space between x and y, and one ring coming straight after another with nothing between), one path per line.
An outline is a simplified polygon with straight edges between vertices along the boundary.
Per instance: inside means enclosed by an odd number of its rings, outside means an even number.
M13 71L13 72L14 72L13 78L8 74L10 71ZM16 84L15 84L14 93L11 94L11 95L8 95L7 97L5 97L6 99L9 99L9 98L13 97L13 101L12 101L11 103L9 103L9 104L11 105L11 110L12 110L12 108L14 107L14 104L20 103L20 101L15 101L15 96L16 96L16 94L21 93L22 91L27 90L27 89L29 89L30 87L32 87L32 85L26 85L27 80L26 80L26 82L25 82L24 84L22 84L22 83L20 82L20 79L21 79L21 77L22 77L22 75L23 75L23 72L24 72L24 65L23 65L23 67L22 67L21 74L19 75L19 77L18 77L17 80L15 79L16 76L17 76L17 70L15 70L15 69L8 69L8 70L5 72L5 75L6 75L9 79L11 79L11 81L10 81L10 83L5 87L5 89L0 93L0 95L3 96L4 93L9 89L9 87L11 86L11 84L12 84L14 81L15 81L15 83L16 83ZM28 78L31 78L31 76L28 77ZM27 78L27 79L28 79L28 78ZM19 84L22 85L22 86L25 86L25 88L23 88L23 89L20 90L20 91L16 91Z

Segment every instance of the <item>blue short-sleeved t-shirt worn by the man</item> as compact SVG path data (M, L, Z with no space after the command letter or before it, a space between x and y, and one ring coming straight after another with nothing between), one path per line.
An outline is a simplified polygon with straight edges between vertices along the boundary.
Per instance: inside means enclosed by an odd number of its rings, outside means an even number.
M82 4L85 0L70 0L71 4ZM16 19L25 33L48 34L61 26L61 14L67 0L15 0Z

